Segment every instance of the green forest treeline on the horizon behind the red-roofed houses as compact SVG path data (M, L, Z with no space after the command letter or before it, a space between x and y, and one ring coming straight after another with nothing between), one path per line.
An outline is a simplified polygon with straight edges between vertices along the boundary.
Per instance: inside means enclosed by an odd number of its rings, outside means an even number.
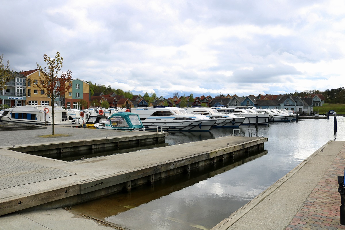
M112 89L110 85L106 87L105 85L100 85L100 84L93 84L91 81L88 81L90 84L90 89L91 89L91 95L95 93L100 93L103 92L104 94L111 94L115 92L117 95L124 95L125 98L132 99L133 96L135 96L131 91L123 91L122 89ZM151 93L152 94L152 93ZM174 93L176 94L176 93ZM291 96L298 96L304 98L305 96L308 96L310 94L322 94L325 97L325 103L341 103L345 104L345 89L344 87L340 87L338 89L326 89L325 91L320 91L320 90L305 90L303 92L297 92L295 91L294 93L286 93L284 95L291 95ZM155 95L155 94L154 94ZM231 94L230 94L231 95ZM283 94L279 94L283 95ZM149 97L148 93L146 92L144 96L145 99ZM152 96L152 95L150 95ZM156 95L155 95L156 96ZM199 95L201 96L201 95ZM172 95L170 96L172 97Z

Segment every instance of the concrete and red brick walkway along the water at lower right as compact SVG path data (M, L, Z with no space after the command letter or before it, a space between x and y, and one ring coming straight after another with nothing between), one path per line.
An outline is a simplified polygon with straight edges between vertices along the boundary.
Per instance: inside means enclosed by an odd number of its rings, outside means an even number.
M344 144L329 141L212 230L345 229L337 191L337 176L344 174Z

